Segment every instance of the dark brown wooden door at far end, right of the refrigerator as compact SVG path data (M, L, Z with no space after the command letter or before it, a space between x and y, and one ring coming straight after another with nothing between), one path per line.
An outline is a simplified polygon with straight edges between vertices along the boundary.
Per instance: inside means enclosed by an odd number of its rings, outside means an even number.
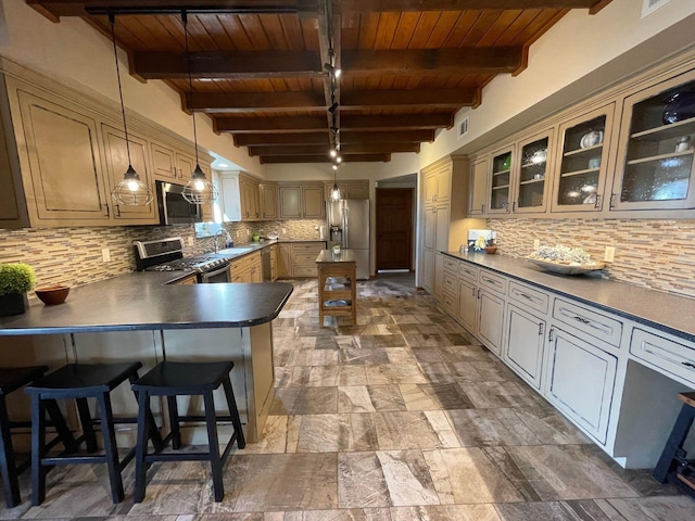
M413 268L413 189L377 189L377 271Z

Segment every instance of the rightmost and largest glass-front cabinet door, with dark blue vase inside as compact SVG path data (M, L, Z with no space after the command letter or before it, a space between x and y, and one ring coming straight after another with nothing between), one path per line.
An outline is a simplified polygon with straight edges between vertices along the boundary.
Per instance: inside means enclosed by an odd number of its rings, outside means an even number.
M695 207L694 144L695 74L626 98L610 209Z

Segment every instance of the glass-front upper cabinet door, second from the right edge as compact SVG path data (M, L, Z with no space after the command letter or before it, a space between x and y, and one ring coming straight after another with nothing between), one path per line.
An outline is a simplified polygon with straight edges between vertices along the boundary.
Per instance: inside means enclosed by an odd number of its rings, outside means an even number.
M614 105L563 123L559 126L552 212L598 212L608 169Z

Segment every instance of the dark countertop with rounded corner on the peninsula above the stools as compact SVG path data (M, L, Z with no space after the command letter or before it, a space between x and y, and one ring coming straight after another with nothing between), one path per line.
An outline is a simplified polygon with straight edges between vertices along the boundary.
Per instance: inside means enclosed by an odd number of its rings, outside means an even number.
M292 284L166 284L181 272L137 271L71 289L64 304L0 317L0 335L242 328L276 318Z

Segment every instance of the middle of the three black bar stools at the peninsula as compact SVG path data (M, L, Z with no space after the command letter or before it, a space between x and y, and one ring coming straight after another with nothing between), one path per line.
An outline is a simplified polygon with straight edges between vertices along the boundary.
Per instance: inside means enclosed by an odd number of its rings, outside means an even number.
M122 364L70 364L48 376L36 380L24 391L31 396L31 504L40 505L46 498L46 475L55 465L106 463L111 482L113 503L121 503L124 497L121 471L135 456L135 448L123 459L118 458L115 423L134 423L132 418L115 419L111 408L110 393L121 383L137 381L139 361ZM58 398L73 398L77 404L83 435L77 444L86 443L89 455L48 456L46 444L46 422L43 410ZM99 420L92 420L87 398L96 398ZM137 394L136 394L137 398ZM162 439L154 425L152 414L147 411L148 429L156 447L162 446ZM101 423L103 454L98 450L93 423Z

